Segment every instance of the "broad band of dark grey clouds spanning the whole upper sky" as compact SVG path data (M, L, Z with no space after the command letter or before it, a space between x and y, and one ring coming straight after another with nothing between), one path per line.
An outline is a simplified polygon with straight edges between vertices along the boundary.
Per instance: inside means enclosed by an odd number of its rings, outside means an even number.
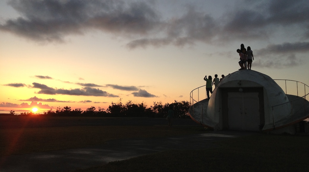
M247 5L248 1L235 3ZM287 34L295 31L293 34L299 39L309 37L307 0L250 1L246 8L236 5L217 18L207 11L198 11L198 4L171 17L161 16L151 2L145 1L16 0L9 5L21 17L4 21L0 31L36 41L63 42L68 35L93 29L125 36L130 39L129 48L265 40L277 28Z

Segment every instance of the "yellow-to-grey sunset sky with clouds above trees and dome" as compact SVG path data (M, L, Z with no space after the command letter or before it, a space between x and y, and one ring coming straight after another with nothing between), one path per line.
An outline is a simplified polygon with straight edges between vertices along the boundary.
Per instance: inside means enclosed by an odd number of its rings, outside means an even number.
M0 113L190 101L241 43L252 70L309 85L308 0L3 0L0 38Z

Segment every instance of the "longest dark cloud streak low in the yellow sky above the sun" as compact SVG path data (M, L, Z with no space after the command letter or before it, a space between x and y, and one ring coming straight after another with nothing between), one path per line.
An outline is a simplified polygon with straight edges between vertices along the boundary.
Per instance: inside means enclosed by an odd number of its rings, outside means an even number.
M104 96L104 97L119 97L114 94L110 94L106 91L102 91L98 88L91 88L91 87L85 87L85 88L75 88L75 89L54 89L51 87L48 87L47 85L44 84L39 84L39 83L32 83L33 87L32 88L39 88L40 91L37 92L38 94L50 94L50 95L55 95L55 94L63 94L63 95L72 95L72 96Z

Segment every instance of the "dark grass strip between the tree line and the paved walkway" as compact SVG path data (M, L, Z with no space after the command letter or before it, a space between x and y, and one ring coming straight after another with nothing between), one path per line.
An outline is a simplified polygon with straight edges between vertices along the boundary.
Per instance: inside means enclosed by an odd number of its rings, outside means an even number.
M70 126L0 129L0 155L27 154L101 145L121 138L167 137L205 132L167 126Z

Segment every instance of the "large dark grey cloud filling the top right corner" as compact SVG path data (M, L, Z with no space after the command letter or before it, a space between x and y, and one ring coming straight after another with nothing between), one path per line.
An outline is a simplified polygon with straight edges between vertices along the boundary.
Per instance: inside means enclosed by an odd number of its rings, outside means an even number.
M306 36L309 31L306 28L309 24L309 6L306 0L256 1L250 7L226 13L222 38L267 39L277 31L276 28L291 34L293 31L288 28L290 26L296 26L303 32L299 33L299 38Z

